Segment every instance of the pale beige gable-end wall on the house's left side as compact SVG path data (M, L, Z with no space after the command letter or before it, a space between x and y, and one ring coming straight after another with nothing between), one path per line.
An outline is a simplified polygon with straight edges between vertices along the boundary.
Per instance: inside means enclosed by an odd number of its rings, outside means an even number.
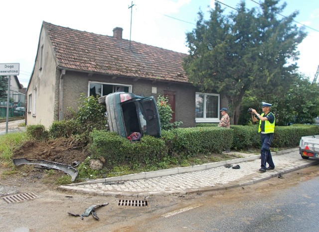
M41 47L43 45L43 57ZM42 58L42 69L40 59ZM42 124L49 128L54 119L54 99L56 82L56 64L53 59L53 52L45 31L41 30L39 46L34 64L33 75L27 88L27 101L32 94L31 107L27 105L27 125Z

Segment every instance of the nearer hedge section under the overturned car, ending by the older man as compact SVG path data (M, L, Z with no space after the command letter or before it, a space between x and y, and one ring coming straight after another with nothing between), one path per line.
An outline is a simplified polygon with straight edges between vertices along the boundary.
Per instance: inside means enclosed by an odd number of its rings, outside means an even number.
M89 152L104 157L106 166L155 164L165 156L178 159L206 153L221 153L232 144L232 130L220 127L178 128L163 131L160 139L143 136L131 142L114 132L93 131Z

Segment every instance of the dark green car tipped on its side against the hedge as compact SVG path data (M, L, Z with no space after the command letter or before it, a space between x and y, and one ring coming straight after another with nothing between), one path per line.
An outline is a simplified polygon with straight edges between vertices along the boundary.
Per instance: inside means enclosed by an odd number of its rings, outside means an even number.
M99 97L99 103L106 104L110 131L130 140L139 140L143 135L161 136L154 96L115 92Z

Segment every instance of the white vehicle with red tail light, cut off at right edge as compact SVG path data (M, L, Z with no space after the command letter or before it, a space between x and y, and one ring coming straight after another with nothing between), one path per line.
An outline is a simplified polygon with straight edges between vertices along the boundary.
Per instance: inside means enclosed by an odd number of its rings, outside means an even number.
M299 153L305 159L309 159L309 157L319 158L319 135L301 137Z

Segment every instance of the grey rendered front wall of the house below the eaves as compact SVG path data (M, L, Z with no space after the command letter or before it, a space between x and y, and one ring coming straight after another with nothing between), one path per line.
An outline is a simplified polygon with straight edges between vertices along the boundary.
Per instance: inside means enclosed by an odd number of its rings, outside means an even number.
M193 127L195 123L195 92L198 91L191 84L160 82L151 80L117 77L112 79L110 76L93 75L89 77L86 73L77 73L66 71L63 84L63 117L68 117L68 107L77 110L78 99L81 93L88 95L88 83L103 82L111 84L127 84L132 85L132 92L137 95L155 96L163 95L165 90L175 93L175 121L182 121L182 127ZM156 93L152 93L152 87L156 87ZM227 107L227 100L220 96L220 108Z

